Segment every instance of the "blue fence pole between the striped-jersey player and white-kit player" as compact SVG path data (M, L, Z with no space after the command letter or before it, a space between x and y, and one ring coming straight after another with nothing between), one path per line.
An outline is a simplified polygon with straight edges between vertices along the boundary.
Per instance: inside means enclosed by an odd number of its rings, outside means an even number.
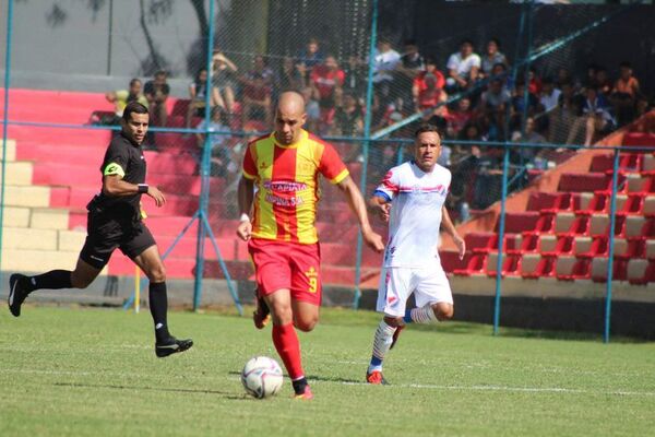
M371 17L371 42L369 46L369 71L368 82L366 86L366 117L364 119L364 144L361 153L364 155L364 162L361 163L361 177L359 178L359 189L361 194L366 197L366 174L368 173L368 160L369 160L369 140L371 137L371 121L373 118L372 106L373 106L373 63L376 57L376 44L378 39L378 0L373 0L373 12ZM353 308L359 308L359 300L361 299L361 290L359 283L361 282L361 249L364 246L364 238L361 232L357 235L357 253L355 259L355 299L353 300Z

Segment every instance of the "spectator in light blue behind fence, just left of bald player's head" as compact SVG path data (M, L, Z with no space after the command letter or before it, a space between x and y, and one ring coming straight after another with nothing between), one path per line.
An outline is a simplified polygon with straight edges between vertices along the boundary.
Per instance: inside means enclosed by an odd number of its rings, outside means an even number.
M212 161L211 161L211 176L224 177L227 182L234 180L234 176L238 173L237 156L231 155L231 151L228 146L229 142L229 127L224 123L225 114L221 106L214 106L212 108L212 119L207 123L206 120L202 120L198 126L203 131L215 131L223 133L210 134L210 146L212 147ZM196 133L198 146L200 149L205 146L205 134Z

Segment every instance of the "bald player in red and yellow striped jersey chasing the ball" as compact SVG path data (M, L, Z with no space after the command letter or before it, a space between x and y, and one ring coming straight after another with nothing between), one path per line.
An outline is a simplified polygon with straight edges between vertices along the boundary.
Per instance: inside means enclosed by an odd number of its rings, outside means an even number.
M384 244L371 229L366 203L346 166L331 144L302 129L306 119L302 96L285 92L277 104L275 131L248 145L237 235L249 241L259 294L273 318L273 343L296 397L311 399L295 328L308 332L319 320L321 270L314 226L319 174L346 196L365 243L378 252Z

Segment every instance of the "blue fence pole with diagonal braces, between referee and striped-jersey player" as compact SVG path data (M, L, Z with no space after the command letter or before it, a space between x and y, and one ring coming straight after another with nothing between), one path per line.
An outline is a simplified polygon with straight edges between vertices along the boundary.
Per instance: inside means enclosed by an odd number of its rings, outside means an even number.
M206 228L203 226L203 221L206 220L207 204L210 198L210 166L212 155L212 142L210 138L210 122L211 122L211 97L212 97L212 55L214 49L214 0L210 0L210 33L207 35L207 82L205 84L205 141L202 147L202 163L201 163L201 189L199 199L199 223L198 223L198 240L195 243L195 281L193 283L193 310L198 311L200 308L200 298L202 296L202 279L204 273L204 243L206 236Z

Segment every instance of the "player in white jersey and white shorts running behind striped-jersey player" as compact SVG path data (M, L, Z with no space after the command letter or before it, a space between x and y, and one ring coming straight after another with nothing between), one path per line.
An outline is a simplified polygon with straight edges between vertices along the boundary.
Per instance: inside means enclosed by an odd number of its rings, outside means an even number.
M389 170L369 201L389 222L377 307L384 318L376 330L366 375L369 383L386 383L382 361L405 323L432 323L453 316L453 297L438 252L440 225L453 238L461 259L466 245L444 206L451 173L437 164L440 154L438 128L421 125L415 133L414 160ZM413 293L417 307L406 311Z

